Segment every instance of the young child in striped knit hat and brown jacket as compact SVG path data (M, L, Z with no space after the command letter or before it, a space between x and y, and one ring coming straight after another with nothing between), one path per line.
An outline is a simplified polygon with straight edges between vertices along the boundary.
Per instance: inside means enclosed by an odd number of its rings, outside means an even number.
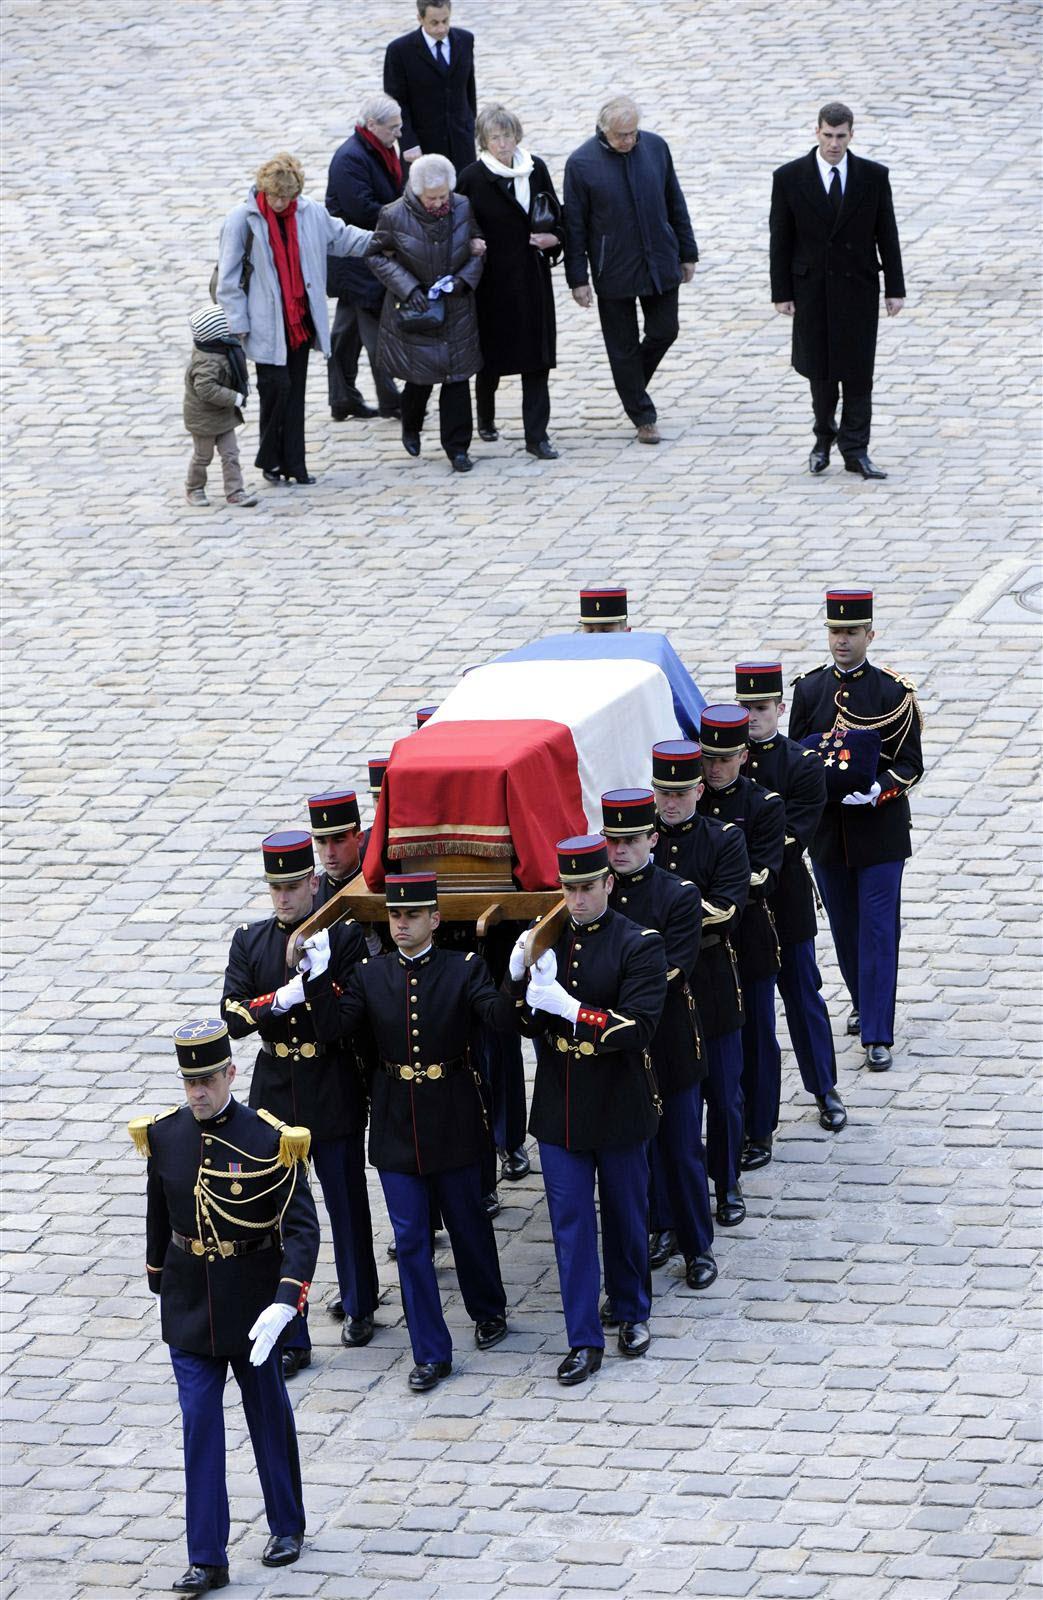
M210 302L190 317L195 349L184 374L184 426L192 435L192 459L184 493L189 506L210 506L206 467L221 456L224 496L229 506L256 506L258 496L243 488L235 429L243 421L248 379L246 357L229 333L221 306Z

